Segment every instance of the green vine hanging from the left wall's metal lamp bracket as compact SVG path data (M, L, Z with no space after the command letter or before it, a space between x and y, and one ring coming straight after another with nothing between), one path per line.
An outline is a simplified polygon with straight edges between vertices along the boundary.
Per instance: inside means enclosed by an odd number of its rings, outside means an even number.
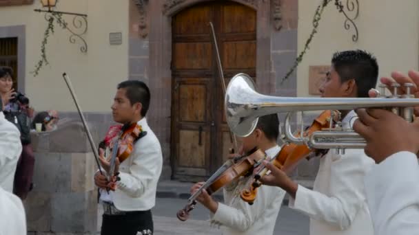
M38 63L35 65L34 71L31 71L31 74L34 74L34 77L38 76L39 70L45 66L49 65L49 61L46 54L46 45L48 44L48 38L54 34L54 22L56 22L63 29L67 27L67 23L62 19L61 13L59 12L50 12L45 14L45 20L48 21L47 28L43 33L43 40L41 43L41 58Z

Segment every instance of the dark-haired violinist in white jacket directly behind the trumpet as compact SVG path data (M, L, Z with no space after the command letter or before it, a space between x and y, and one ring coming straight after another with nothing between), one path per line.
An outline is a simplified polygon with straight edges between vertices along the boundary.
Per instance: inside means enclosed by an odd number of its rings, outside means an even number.
M366 98L376 87L378 65L366 52L338 52L331 60L331 71L320 86L325 98ZM354 111L340 111L343 128L351 128ZM261 181L283 188L290 195L289 208L310 217L311 235L372 235L373 225L365 197L364 177L374 165L363 149L347 149L345 154L328 151L320 158L313 190L298 185L285 172L264 162L272 171Z

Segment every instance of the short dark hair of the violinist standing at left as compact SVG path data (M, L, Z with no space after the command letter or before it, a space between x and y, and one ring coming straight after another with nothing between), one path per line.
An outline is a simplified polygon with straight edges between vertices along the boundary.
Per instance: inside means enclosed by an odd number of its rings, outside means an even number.
M135 103L143 105L141 116L145 117L150 106L150 89L147 85L139 80L127 80L119 83L118 89L121 88L125 89L125 96L130 100L131 105Z

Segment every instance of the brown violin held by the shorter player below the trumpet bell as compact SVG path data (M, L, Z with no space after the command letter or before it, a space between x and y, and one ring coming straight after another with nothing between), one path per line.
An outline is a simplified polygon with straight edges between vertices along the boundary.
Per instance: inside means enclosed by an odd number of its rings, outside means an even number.
M194 210L196 205L196 198L201 194L203 190L207 190L208 194L213 194L220 188L223 188L230 182L238 179L241 176L245 176L252 173L255 166L258 166L264 159L266 159L265 153L262 150L254 150L250 155L242 156L242 159L237 163L234 163L233 159L228 161L219 168L214 175L210 177L201 188L199 188L189 199L187 199L187 205L178 211L176 216L181 221L186 221L189 218L189 212Z

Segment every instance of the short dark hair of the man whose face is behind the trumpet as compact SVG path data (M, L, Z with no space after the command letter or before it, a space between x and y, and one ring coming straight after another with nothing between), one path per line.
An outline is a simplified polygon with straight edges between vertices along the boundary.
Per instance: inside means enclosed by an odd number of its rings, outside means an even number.
M331 63L340 76L340 82L355 80L358 98L369 97L369 89L376 87L378 64L372 54L360 49L336 52L331 58Z

